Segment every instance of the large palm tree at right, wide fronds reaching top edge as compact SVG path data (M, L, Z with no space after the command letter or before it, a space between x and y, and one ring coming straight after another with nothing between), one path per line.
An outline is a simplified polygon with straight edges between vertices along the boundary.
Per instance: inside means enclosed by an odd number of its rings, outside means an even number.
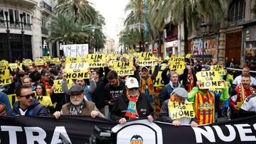
M188 53L188 28L197 26L198 21L213 19L219 22L224 16L224 0L148 0L147 5L154 28L160 31L171 18L172 23L183 23L184 51Z

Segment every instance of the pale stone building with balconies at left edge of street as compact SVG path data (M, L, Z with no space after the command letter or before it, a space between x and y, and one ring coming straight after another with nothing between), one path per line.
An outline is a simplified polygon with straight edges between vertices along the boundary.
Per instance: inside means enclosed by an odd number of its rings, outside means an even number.
M46 42L53 0L0 0L0 59L36 59L57 55Z

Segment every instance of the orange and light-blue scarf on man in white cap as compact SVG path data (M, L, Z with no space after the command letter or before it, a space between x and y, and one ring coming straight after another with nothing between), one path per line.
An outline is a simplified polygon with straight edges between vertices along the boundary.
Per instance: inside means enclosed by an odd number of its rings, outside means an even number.
M129 99L129 104L127 107L127 112L125 113L125 116L129 117L130 119L136 119L138 115L137 106L136 103L139 99L139 93L137 96L129 96L129 93L127 92L127 99Z

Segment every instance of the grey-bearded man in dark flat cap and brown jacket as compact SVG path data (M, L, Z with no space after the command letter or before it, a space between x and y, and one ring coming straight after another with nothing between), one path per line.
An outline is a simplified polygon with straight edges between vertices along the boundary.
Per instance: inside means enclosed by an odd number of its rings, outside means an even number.
M85 92L83 87L79 84L71 87L68 90L68 94L70 94L70 102L64 104L61 111L53 113L53 116L55 116L56 119L60 118L60 115L62 114L71 116L90 115L92 118L95 118L96 116L105 118L93 102L84 99Z

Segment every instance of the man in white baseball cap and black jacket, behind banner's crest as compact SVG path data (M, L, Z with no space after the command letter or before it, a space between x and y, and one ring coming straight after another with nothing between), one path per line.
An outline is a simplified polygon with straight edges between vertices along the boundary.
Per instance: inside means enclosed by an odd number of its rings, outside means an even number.
M128 119L145 118L153 121L154 109L147 96L139 92L139 82L129 77L125 82L126 90L114 101L110 118L120 124L127 123Z

